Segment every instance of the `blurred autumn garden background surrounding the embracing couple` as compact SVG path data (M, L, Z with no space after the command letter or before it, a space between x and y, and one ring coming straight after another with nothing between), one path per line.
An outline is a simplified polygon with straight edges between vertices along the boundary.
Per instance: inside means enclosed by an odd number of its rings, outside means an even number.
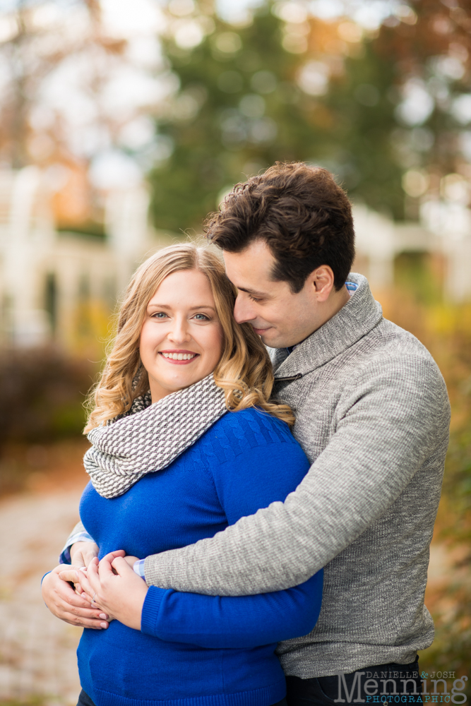
M2 705L76 702L78 631L39 582L129 276L275 160L347 189L354 270L446 378L420 664L471 676L470 52L467 0L0 0Z

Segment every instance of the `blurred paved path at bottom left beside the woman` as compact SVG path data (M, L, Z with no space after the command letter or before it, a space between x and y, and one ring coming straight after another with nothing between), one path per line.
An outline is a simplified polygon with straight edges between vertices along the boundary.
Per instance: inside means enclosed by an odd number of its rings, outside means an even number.
M40 582L78 519L80 496L79 486L0 503L0 703L35 697L45 705L77 702L81 630L49 613Z

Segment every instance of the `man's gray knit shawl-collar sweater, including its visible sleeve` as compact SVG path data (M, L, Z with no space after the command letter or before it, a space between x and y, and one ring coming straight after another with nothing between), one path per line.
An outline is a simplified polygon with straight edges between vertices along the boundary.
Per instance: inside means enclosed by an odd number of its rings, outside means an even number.
M431 644L424 606L450 409L427 349L383 319L366 279L291 355L273 351L276 394L312 463L285 503L211 539L150 556L148 584L240 596L297 585L325 567L314 630L281 642L302 678L407 664Z

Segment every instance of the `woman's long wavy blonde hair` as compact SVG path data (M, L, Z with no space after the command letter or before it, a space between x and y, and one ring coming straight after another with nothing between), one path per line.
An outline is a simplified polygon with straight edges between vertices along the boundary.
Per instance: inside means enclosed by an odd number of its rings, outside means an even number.
M216 385L225 390L227 409L237 412L258 407L287 424L294 424L288 405L269 402L273 389L270 359L251 325L237 323L232 315L237 290L227 279L224 265L207 247L187 243L155 253L142 263L129 282L105 368L90 391L91 412L84 433L128 412L136 397L148 391L148 374L139 353L145 312L160 283L180 270L198 270L210 282L223 332L222 355L213 375Z

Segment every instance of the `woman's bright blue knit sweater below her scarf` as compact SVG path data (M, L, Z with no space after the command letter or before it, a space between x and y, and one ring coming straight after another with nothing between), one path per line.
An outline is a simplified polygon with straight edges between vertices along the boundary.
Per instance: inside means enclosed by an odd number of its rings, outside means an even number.
M287 425L256 409L228 412L169 467L118 498L89 483L81 519L100 546L144 558L213 537L284 501L309 462ZM309 633L322 571L285 591L212 597L151 586L141 632L118 621L85 628L81 685L97 706L269 706L285 696L275 648Z

